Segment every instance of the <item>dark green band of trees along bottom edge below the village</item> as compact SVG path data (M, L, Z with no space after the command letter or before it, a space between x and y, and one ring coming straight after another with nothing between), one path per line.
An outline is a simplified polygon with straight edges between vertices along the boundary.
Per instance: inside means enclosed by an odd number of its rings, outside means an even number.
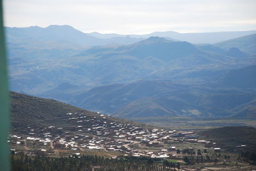
M109 159L99 156L73 155L69 158L47 158L46 156L28 156L27 154L12 154L12 171L20 170L174 170L180 168L175 164L164 160L163 164L148 162L147 158Z

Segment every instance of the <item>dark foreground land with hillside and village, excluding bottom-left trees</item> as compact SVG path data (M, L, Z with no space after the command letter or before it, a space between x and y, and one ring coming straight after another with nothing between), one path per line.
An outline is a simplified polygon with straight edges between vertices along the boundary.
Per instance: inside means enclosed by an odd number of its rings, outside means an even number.
M70 156L79 162L88 155L97 155L109 158L109 162L131 162L136 158L147 163L151 158L155 167L163 165L166 169L254 168L248 165L253 161L239 157L243 151L256 149L256 129L252 127L172 130L172 126L134 123L55 100L19 93L11 96L12 133L8 143L15 158L26 155L57 160ZM237 130L236 135L227 138L225 133L233 129ZM146 163L144 167L149 167Z

